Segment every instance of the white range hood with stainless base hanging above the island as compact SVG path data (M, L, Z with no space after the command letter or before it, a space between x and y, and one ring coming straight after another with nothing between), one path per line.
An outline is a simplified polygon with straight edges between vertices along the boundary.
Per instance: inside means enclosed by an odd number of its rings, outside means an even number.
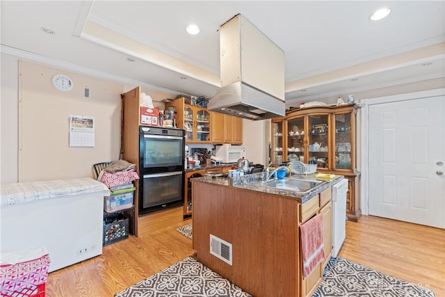
M220 77L210 111L249 120L284 116L284 52L239 14L220 26Z

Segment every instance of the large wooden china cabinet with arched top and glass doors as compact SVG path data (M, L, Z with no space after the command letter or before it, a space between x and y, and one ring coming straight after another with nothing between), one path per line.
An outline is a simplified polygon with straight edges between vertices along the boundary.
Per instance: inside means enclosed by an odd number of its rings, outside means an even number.
M346 215L357 222L361 173L356 169L355 104L295 109L271 125L273 164L298 160L317 164L317 172L344 175L348 179Z

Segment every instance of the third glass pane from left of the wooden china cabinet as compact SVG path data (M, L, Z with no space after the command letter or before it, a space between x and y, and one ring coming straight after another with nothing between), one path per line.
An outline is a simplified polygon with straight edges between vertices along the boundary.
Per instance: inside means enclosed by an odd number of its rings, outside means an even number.
M308 163L317 164L317 168L328 168L329 115L308 115Z

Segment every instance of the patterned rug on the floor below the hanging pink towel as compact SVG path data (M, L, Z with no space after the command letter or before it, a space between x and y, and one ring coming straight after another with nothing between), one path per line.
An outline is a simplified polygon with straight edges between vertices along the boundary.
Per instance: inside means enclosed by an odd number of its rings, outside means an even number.
M433 297L435 294L410 282L393 278L340 257L331 258L323 282L313 297Z

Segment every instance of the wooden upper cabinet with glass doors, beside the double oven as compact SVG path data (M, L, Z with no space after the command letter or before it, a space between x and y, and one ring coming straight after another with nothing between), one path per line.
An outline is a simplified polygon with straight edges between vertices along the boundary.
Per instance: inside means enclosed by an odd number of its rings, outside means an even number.
M175 107L176 125L186 130L186 143L211 143L211 115L205 107L186 104L181 97L165 103L165 110Z

